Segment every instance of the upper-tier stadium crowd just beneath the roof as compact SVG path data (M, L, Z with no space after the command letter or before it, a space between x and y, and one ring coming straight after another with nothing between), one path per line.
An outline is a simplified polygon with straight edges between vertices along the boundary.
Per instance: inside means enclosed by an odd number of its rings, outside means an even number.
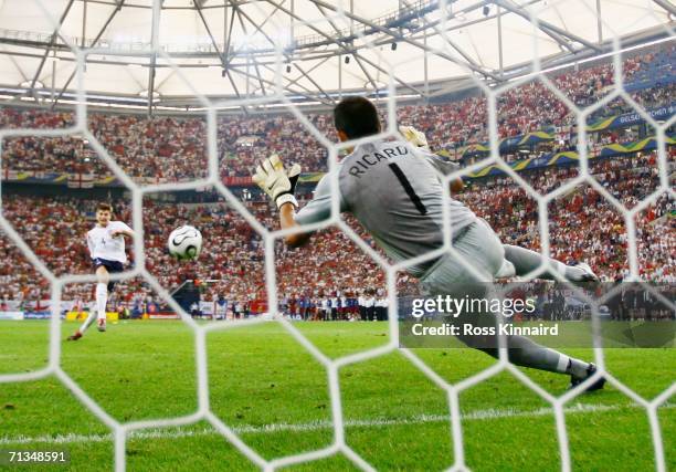
M676 74L676 46L663 44L638 51L623 60L623 78L631 83L656 64L665 77ZM606 95L614 85L612 62L606 59L583 67L554 72L553 85L580 107ZM631 93L644 108L670 104L676 84L664 80ZM630 112L622 98L612 101L592 116ZM308 120L335 140L328 114L308 114ZM471 143L488 140L488 112L483 95L425 106L398 107L399 123L423 130L439 149L457 149ZM0 128L64 128L75 117L67 112L33 108L0 108ZM500 93L497 98L500 138L528 132L551 129L562 141L573 145L575 116L542 82L534 80ZM207 172L205 123L201 117L155 117L92 113L88 129L108 150L119 167L133 178L148 181L182 181L204 177ZM223 115L218 119L218 149L222 177L247 177L255 162L272 153L297 161L305 171L326 170L327 150L289 115ZM82 137L11 137L2 144L3 168L29 172L93 174L110 176L110 170Z

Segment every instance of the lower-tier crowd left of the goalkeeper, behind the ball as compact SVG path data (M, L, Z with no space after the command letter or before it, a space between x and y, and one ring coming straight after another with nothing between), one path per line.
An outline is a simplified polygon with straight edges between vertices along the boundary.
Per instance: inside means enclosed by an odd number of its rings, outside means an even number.
M6 197L3 211L8 220L35 254L56 275L91 274L91 259L85 243L86 232L95 224L97 200L68 197ZM114 202L115 219L130 222L129 207ZM258 221L274 227L273 213L264 202L249 206ZM203 252L197 263L179 263L166 249L167 234L180 224L197 225L204 238ZM235 211L224 203L170 204L144 202L146 266L160 284L172 292L187 280L216 280L205 285L211 295L225 290L229 300L264 300L264 249L260 235ZM128 244L133 259L133 251ZM275 261L279 293L286 296L325 296L345 292L347 287L382 289L383 273L345 234L337 230L320 231L311 250L289 250L276 244ZM0 251L7 260L15 260L0 273L4 281L0 293L7 298L27 295L49 298L49 286L27 274L31 265L8 240ZM19 269L19 270L17 270ZM21 294L19 292L22 292ZM63 300L91 298L92 284L71 284ZM221 292L221 294L223 294ZM139 298L156 297L150 286L137 277L117 284L112 303L134 304ZM42 297L42 298L41 298Z

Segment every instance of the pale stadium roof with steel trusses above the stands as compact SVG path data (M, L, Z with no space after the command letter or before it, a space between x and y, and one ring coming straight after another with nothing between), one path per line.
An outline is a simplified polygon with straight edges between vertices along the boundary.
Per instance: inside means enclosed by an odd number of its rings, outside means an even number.
M0 94L54 106L81 77L91 103L149 111L196 93L320 105L390 81L429 98L535 54L549 67L673 36L675 19L670 0L0 0Z

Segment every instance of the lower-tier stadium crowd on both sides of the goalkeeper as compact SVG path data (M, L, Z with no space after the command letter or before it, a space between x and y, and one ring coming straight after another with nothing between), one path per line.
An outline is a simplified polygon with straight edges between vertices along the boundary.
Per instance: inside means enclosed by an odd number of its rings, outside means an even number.
M673 166L673 160L672 164ZM590 162L594 178L627 208L649 195L657 185L655 155L649 153ZM574 168L549 167L524 172L539 191L566 182L577 175ZM540 249L537 202L505 176L489 176L469 181L457 198L485 218L505 243ZM12 197L3 199L4 216L29 247L56 274L91 273L84 243L85 232L94 224L97 200L73 197ZM262 196L246 202L249 211L265 227L276 228L276 213ZM128 204L114 202L116 218L131 221ZM548 207L551 253L566 262L587 261L604 281L622 280L629 274L626 232L622 216L590 186L577 187ZM676 208L661 198L636 217L638 263L645 280L676 282ZM166 250L169 232L184 223L197 225L204 238L198 263L179 263ZM349 224L369 241L353 222ZM244 310L264 308L265 270L261 237L237 212L224 202L168 203L144 202L146 265L170 292L183 281L216 281L203 284L204 300L224 298ZM370 241L369 241L370 243ZM131 253L131 251L129 251ZM7 239L0 243L6 264L0 272L6 300L49 298L49 285L13 249ZM131 259L133 259L133 254ZM372 297L373 313L384 303L384 274L345 233L336 229L320 231L311 249L275 245L275 265L279 300L287 310L305 316L353 315L358 297ZM400 290L413 283L400 275ZM89 301L93 284L66 286L63 300ZM112 303L134 305L155 297L141 279L120 282ZM346 306L342 298L349 302ZM300 303L300 300L305 302ZM284 302L286 301L286 302ZM334 301L334 302L331 302ZM337 306L331 304L337 303ZM256 304L257 307L253 307ZM326 305L328 304L328 305ZM359 305L360 306L360 305ZM325 310L327 308L327 310ZM340 308L334 312L332 308ZM353 308L352 312L348 308ZM377 316L377 315L373 315Z

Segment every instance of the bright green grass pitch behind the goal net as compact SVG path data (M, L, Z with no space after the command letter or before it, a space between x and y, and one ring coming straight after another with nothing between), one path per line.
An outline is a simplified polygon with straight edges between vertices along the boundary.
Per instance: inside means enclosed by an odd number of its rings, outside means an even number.
M384 323L297 323L336 358L387 343ZM62 338L75 329L64 323ZM278 324L208 335L212 411L262 457L296 454L332 441L327 375ZM0 374L46 365L46 322L0 322ZM592 359L591 349L568 354ZM458 381L494 361L472 349L419 349L437 374ZM180 322L122 322L62 346L64 370L119 421L184 416L197 408L194 337ZM674 382L674 349L606 349L610 371L652 399ZM568 378L524 369L560 395ZM445 395L393 353L340 369L346 440L378 470L441 470L453 464ZM508 374L461 395L466 462L477 471L559 470L548 405ZM667 470L676 469L676 410L659 409ZM566 416L577 470L654 470L647 415L619 390L578 397ZM67 470L112 470L110 431L55 378L0 384L0 449L67 450ZM219 471L254 466L209 423L144 430L127 440L127 470ZM21 470L45 468L22 466ZM55 468L59 469L59 468ZM62 468L66 469L66 468ZM297 470L355 470L342 455Z

